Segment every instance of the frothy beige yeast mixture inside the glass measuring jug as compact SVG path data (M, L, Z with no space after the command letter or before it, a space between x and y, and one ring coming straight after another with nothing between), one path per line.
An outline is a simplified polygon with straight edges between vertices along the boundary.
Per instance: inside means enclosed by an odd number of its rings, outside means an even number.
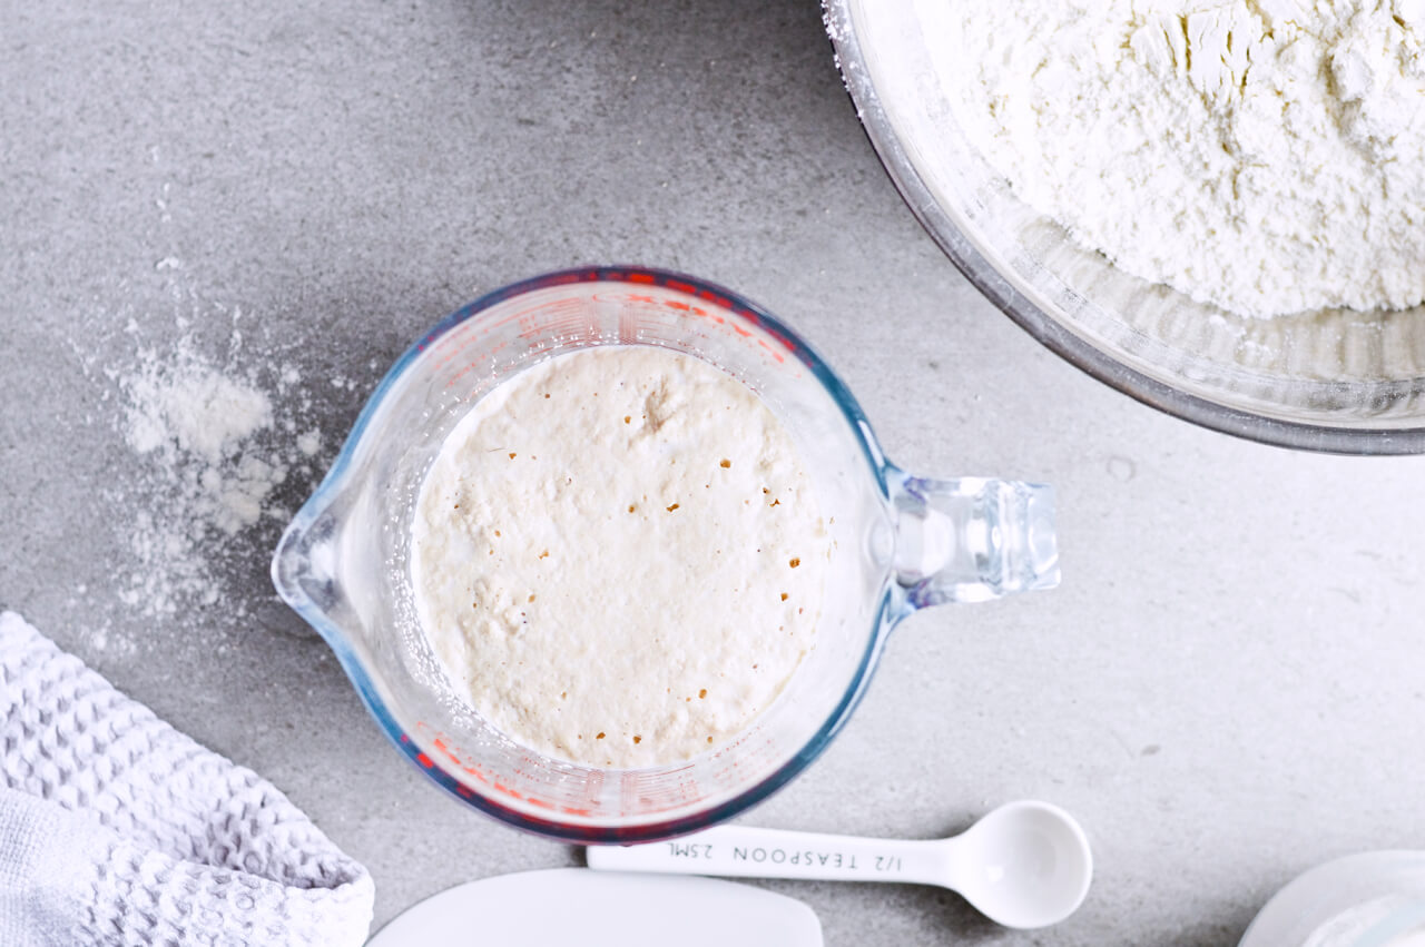
M831 541L741 382L651 346L543 362L480 399L422 486L412 577L456 691L593 766L717 746L812 647Z

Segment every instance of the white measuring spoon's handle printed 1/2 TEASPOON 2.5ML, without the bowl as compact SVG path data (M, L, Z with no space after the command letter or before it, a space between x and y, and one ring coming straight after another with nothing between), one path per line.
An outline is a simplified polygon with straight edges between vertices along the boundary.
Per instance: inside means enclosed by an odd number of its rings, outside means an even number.
M589 849L589 867L722 877L909 881L945 884L943 840L906 842L858 836L718 826L673 842Z

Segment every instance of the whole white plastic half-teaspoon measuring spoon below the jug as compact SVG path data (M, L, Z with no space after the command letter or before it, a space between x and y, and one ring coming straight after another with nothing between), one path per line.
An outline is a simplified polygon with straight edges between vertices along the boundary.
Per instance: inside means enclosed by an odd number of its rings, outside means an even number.
M674 842L589 849L589 867L767 879L908 881L959 891L1005 927L1047 927L1089 893L1093 853L1073 816L1012 802L928 842L718 826Z

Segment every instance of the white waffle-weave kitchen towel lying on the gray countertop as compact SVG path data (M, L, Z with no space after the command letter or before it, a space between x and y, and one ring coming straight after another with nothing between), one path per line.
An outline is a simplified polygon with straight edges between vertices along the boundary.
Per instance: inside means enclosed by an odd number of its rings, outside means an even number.
M373 889L271 783L0 614L0 946L361 944Z

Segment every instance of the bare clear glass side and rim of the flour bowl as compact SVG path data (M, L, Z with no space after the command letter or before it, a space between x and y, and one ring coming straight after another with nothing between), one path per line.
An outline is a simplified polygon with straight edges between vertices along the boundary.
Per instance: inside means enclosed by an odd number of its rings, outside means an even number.
M956 127L923 9L825 0L826 28L901 195L1005 315L1100 382L1203 427L1302 450L1425 451L1425 306L1248 319L1076 246Z

